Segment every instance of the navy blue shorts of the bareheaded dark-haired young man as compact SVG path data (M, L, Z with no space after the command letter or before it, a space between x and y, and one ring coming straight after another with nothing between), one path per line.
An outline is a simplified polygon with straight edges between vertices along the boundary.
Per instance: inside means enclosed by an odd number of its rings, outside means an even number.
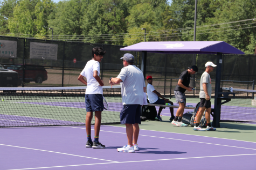
M102 94L85 94L86 112L103 111L103 95Z

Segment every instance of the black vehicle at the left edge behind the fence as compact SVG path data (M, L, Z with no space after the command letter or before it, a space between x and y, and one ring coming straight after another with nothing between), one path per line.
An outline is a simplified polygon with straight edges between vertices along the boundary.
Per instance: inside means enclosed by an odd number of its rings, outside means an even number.
M4 69L0 65L0 87L18 87L18 72Z

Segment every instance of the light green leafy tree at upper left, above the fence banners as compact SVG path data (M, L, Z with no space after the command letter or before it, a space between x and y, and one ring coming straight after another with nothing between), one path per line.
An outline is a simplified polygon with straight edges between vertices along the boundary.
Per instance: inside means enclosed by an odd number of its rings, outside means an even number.
M12 34L29 34L45 38L47 17L53 9L54 4L51 0L21 0L13 9L13 17L8 20L8 28Z

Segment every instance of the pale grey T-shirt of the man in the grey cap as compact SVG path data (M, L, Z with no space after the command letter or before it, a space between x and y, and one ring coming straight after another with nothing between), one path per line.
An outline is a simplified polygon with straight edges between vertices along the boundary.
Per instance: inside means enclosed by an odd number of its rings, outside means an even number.
M146 86L142 71L135 65L128 65L122 68L117 78L122 80L123 105L143 105L143 87Z

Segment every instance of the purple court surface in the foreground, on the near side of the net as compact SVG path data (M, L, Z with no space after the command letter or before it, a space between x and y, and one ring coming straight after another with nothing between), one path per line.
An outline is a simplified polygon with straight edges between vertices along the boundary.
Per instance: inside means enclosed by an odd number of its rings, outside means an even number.
M123 153L123 127L101 126L105 149L85 147L84 126L1 128L0 169L256 169L256 143L200 133L140 130L140 150Z

